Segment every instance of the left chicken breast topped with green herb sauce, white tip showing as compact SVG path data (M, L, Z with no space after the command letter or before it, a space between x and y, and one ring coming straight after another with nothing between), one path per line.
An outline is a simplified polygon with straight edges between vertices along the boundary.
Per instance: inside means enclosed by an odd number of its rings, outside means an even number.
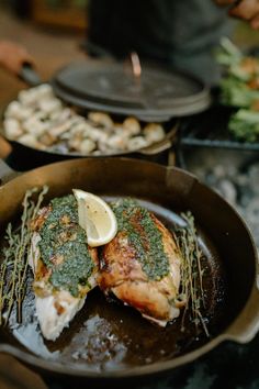
M30 265L36 314L45 338L55 341L97 285L95 248L87 244L72 194L56 198L32 222Z

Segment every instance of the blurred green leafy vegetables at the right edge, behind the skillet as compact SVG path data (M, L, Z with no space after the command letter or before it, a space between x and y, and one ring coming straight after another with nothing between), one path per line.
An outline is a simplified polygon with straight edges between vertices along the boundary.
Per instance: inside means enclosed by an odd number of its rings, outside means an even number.
M228 122L230 134L241 142L258 142L259 59L244 55L228 38L223 38L216 60L224 68L221 102L236 109Z

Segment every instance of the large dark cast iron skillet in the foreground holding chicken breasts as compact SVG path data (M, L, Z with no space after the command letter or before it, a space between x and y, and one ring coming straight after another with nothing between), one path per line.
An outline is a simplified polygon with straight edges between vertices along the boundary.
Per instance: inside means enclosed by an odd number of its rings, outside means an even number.
M1 164L2 168L7 166ZM44 342L27 291L23 324L15 316L0 329L0 352L36 371L65 380L127 382L182 366L223 341L249 342L259 329L257 254L252 237L236 211L189 173L127 158L80 158L23 174L0 187L1 236L15 222L26 189L49 186L47 201L81 188L108 200L131 196L143 201L168 227L182 223L190 210L204 253L204 288L211 337L193 333L180 320L166 329L145 321L130 307L109 302L95 289L69 329L55 342ZM124 385L123 382L121 382Z

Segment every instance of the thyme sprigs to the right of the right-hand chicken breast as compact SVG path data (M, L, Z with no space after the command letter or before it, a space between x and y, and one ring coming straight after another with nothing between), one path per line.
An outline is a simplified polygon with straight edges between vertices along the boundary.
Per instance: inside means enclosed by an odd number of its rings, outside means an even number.
M202 268L203 253L199 246L198 233L194 225L194 218L190 211L181 214L185 222L183 227L176 232L177 244L182 255L181 265L181 290L180 300L184 301L184 311L182 315L181 329L184 331L187 313L191 315L191 320L196 326L201 324L206 336L210 336L202 310L205 308L204 289L202 277L204 269Z

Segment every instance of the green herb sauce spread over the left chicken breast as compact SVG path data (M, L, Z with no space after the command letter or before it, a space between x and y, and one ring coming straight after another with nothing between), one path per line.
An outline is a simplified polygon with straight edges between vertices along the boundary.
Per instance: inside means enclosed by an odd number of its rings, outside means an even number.
M50 207L52 211L40 231L42 259L52 269L49 281L53 287L66 289L78 297L78 287L88 284L94 264L86 232L78 224L77 200L69 194L52 200ZM55 258L59 258L60 263L55 263Z

